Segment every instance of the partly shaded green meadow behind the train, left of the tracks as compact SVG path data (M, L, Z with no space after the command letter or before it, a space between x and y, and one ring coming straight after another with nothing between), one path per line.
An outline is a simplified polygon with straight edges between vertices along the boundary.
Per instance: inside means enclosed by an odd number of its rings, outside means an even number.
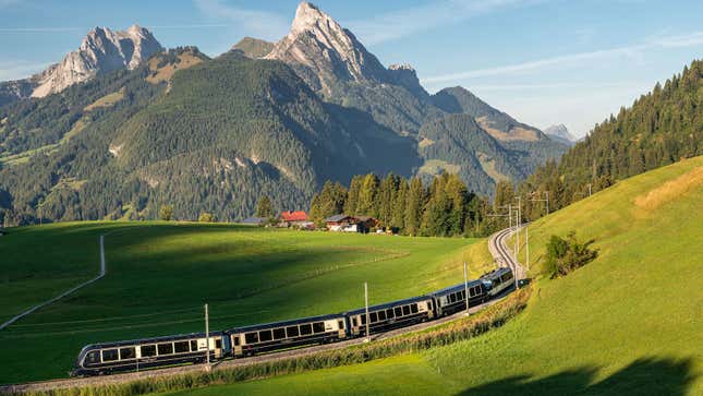
M474 240L169 223L13 228L0 238L0 320L108 275L0 331L0 383L65 376L89 343L340 312L424 293L489 265Z

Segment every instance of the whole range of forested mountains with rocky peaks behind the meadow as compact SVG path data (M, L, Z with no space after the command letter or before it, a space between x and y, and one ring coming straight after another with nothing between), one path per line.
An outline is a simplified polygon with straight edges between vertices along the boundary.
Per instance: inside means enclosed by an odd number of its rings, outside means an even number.
M567 149L462 87L428 94L306 2L278 43L215 59L95 28L0 98L0 207L15 223L154 218L166 203L242 218L262 194L305 208L324 181L372 171L450 171L492 194Z

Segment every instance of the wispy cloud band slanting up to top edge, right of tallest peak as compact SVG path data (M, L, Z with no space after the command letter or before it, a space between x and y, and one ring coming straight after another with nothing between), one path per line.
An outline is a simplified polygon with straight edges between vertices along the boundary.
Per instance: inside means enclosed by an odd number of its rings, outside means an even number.
M344 25L349 26L364 44L374 45L437 26L456 24L502 9L545 1L547 0L445 0L376 15L363 21L349 21Z

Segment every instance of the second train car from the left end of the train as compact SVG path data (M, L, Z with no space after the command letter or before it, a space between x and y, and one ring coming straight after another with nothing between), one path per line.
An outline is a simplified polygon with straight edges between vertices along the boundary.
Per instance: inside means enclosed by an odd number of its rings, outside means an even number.
M232 355L237 358L337 341L347 338L347 322L342 314L331 314L239 327L225 333L230 337Z

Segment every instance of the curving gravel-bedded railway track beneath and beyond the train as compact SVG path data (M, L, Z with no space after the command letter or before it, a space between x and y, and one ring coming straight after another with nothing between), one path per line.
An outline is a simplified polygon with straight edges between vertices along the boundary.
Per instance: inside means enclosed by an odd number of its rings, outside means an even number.
M509 266L510 268L512 268L513 274L516 274L516 277L518 277L518 279L522 279L524 278L525 273L522 266L519 263L514 262L514 260L511 256L510 250L506 245L507 238L509 238L510 235L512 235L513 232L514 232L513 229L505 229L494 233L488 239L488 249L492 255L494 256L494 260L496 263L498 263L499 265ZM472 307L469 310L469 313L478 312L500 301L511 290L513 289L512 288L507 289L506 292L504 292L499 298L493 299L490 301L487 301L476 307ZM453 315L445 316L432 322L419 323L412 326L397 328L390 332L376 334L376 335L373 335L371 338L372 338L372 341L381 340L381 339L391 338L407 333L436 327L444 323L463 317L465 314L466 314L466 311L461 311ZM246 365L258 364L263 362L275 362L279 360L299 358L299 357L304 357L304 356L308 356L308 355L313 355L322 351L347 348L354 345L362 345L365 341L366 341L365 338L354 338L354 339L349 339L349 340L335 343L335 344L317 345L317 346L312 346L312 347L306 347L301 349L292 349L287 351L274 352L269 355L258 355L258 356L249 357L249 358L223 360L223 361L214 363L213 370L226 370L226 369L231 369L235 367L246 367ZM180 375L185 373L193 373L193 372L198 372L203 370L204 370L203 364L191 364L191 365L181 365L181 367L166 368L166 369L146 370L142 372L112 374L112 375L105 375L105 376L28 382L28 383L22 383L22 384L1 385L0 394L43 392L43 391L51 391L51 389L59 389L59 388L113 385L113 384L121 384L121 383L133 382L137 380L144 380L144 379L154 379L154 377L163 377L163 376L173 376L173 375Z

